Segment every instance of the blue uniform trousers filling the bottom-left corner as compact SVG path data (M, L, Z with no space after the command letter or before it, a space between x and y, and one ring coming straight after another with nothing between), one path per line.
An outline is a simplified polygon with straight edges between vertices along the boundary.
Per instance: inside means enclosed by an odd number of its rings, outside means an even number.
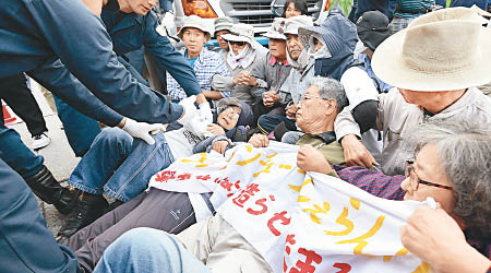
M1 272L82 272L72 251L57 244L25 181L0 159Z

